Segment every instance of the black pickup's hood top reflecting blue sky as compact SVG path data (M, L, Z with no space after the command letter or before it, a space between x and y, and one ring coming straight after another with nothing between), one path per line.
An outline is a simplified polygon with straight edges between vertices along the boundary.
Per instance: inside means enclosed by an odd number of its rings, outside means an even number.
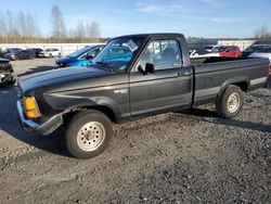
M18 79L23 92L30 91L40 87L49 87L72 81L79 81L112 75L112 71L96 67L70 67L64 69L53 69L23 76Z

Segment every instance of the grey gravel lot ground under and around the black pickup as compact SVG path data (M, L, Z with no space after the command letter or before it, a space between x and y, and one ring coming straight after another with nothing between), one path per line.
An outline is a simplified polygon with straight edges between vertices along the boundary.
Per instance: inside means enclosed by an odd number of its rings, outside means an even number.
M13 65L21 76L54 60ZM0 203L271 203L271 89L246 94L232 119L206 105L116 125L87 161L66 154L61 131L22 131L15 100L0 89Z

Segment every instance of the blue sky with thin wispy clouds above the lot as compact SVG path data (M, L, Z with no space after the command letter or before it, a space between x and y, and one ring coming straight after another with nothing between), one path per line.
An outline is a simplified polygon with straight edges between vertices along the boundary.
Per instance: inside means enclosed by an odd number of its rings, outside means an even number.
M183 33L195 37L254 37L271 30L271 0L1 0L0 11L31 13L50 36L50 12L56 4L66 27L78 20L99 22L102 37L138 33Z

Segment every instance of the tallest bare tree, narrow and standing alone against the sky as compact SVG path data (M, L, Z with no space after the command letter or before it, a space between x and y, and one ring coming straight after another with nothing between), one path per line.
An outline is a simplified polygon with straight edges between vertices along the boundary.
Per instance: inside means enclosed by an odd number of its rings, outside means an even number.
M51 10L52 37L60 39L66 36L66 27L63 15L57 5L53 5Z

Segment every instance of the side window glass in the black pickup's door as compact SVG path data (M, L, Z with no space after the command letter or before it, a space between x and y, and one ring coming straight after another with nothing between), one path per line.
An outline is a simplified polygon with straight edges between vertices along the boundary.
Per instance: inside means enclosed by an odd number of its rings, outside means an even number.
M178 41L173 39L152 41L142 54L138 66L144 69L146 63L154 64L155 69L180 67L182 55Z

